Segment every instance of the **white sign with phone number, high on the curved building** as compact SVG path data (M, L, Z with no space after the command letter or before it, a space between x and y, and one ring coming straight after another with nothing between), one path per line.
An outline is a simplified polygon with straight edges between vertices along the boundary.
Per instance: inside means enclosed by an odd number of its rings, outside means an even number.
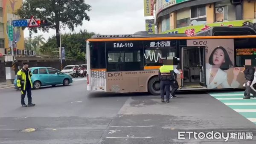
M170 6L183 3L189 0L157 0L156 2L156 14L161 12L163 9L166 9Z

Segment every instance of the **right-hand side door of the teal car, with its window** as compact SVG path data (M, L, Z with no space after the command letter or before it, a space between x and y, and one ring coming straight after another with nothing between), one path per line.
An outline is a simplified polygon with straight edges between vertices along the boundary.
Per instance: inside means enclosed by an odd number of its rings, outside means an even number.
M58 71L57 69L54 68L47 68L48 73L49 73L49 78L50 78L50 83L51 84L62 84L64 75L61 75L62 72Z

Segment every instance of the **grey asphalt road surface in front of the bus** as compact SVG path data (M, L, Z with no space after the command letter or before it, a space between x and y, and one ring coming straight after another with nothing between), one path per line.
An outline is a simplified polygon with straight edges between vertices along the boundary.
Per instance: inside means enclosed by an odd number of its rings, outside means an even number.
M207 93L181 93L161 103L148 93L88 92L86 79L20 92L0 89L1 144L255 144L256 124ZM27 101L27 99L25 99ZM31 131L29 128L32 128ZM179 139L178 132L253 132L253 139ZM217 135L218 137L218 135Z

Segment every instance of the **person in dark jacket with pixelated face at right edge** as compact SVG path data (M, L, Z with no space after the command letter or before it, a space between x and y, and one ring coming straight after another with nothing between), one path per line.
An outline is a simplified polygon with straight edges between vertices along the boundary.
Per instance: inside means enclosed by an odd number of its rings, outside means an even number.
M244 99L250 99L251 88L250 85L254 79L255 69L252 66L251 60L245 60L245 69L244 69L244 78L245 78L245 91L244 91Z

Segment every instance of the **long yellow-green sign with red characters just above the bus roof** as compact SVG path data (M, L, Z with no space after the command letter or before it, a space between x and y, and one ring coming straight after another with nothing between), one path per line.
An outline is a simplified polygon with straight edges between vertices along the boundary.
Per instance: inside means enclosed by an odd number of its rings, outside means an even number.
M198 26L186 26L182 28L172 29L165 32L163 34L186 34L187 36L196 36L197 32L205 31L210 29L213 26L242 26L244 21L253 22L253 20L234 20L220 23L206 23Z

